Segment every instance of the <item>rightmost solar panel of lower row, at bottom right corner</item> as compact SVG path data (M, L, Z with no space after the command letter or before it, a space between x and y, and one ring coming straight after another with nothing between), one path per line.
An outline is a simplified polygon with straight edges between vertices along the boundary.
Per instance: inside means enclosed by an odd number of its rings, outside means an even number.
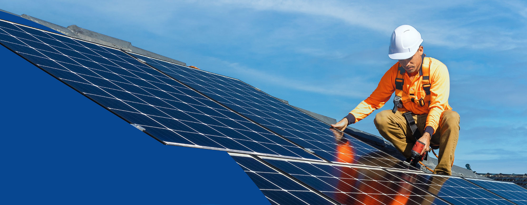
M467 180L516 204L527 205L527 189L520 187L515 183L482 179Z

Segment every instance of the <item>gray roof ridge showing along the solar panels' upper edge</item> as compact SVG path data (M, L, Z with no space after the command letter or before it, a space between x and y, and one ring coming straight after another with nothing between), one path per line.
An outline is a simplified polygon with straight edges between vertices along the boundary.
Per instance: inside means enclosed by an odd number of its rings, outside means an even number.
M3 11L2 9L0 9L0 11L6 12L6 11ZM10 13L10 12L6 12L6 13L13 14L13 13ZM13 15L16 15L16 14L13 14ZM22 14L22 15L19 15L19 16L21 16L21 17L23 17L25 19L31 20L32 22L35 22L35 23L41 24L43 26L46 26L48 28L51 28L53 30L56 30L56 31L58 31L58 32L60 32L60 33L62 33L64 35L70 36L70 37L79 38L79 39L87 40L89 42L102 44L102 45L106 45L106 46L110 46L110 47L114 47L114 48L118 48L118 49L122 49L122 50L127 50L127 51L130 51L130 52L133 52L133 53L137 53L137 54L141 54L141 55L145 55L145 56L150 56L150 57L153 57L153 58L158 58L158 59L170 61L172 63L179 64L179 65L186 65L185 63L183 63L183 62L181 62L179 60L168 58L168 57L165 57L165 56L162 56L162 55L159 55L159 54L155 54L155 53L149 52L148 50L144 50L144 49L132 46L132 43L127 42L125 40L121 40L121 39L118 39L118 38L114 38L114 37L111 37L111 36L107 36L107 35L104 35L104 34L93 32L92 30L84 29L84 28L81 28L81 27L76 26L76 25L63 27L63 26L56 25L56 24L53 24L53 23L50 23L50 22L46 22L45 20L42 20L42 19L38 19L38 18L29 16L29 15L26 15L26 14ZM285 102L286 104L289 104L289 102L287 100L282 100L282 99L280 99L280 100ZM295 106L293 106L293 107L295 107ZM320 114L317 114L315 112L311 112L309 110L305 110L305 109L302 109L302 108L298 108L298 107L295 107L295 108L297 108L300 111L305 112L306 114L308 114L308 115L310 115L310 116L312 116L314 118L319 119L320 121L326 122L326 124L331 125L331 124L335 124L337 122L337 120L334 119L334 118L330 118L330 117L327 117L327 116L324 116L324 115L320 115ZM353 136L357 137L358 139L368 143L369 145L372 145L375 148L377 148L379 150L382 150L382 151L394 156L395 158L398 158L398 159L401 159L401 160L405 160L404 156L402 156L401 153L399 153L395 149L395 147L392 145L392 143L388 142L388 141L385 141L382 137L379 137L379 136L370 134L368 132L364 132L364 131L355 129L353 127L348 127L348 128L346 128L345 131L348 132L348 134L352 134ZM423 163L427 167L429 167L431 169L434 169L435 166L437 165L437 159L434 159L432 157L428 157L428 160L423 161ZM428 172L428 173L431 173L430 171L428 171L424 167L421 167L421 170L423 170L425 172ZM489 178L483 177L481 175L476 175L472 170L469 170L469 169L466 169L466 168L463 168L463 167L458 167L458 166L455 166L455 165L452 167L452 175L454 175L454 176L461 176L461 177L479 178L479 179L489 179Z

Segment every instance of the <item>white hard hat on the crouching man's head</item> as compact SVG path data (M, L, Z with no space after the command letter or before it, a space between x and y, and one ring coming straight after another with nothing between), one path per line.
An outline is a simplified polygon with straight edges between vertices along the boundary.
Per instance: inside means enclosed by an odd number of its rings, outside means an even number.
M423 43L423 38L413 26L398 26L392 33L388 57L394 60L410 58L417 52L421 43Z

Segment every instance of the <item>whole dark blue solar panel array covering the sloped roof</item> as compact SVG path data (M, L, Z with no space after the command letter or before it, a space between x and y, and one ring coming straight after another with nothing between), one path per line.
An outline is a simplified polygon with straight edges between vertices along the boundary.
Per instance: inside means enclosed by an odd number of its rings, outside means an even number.
M0 44L163 143L228 151L271 204L527 205L519 186L418 172L238 79L3 20Z

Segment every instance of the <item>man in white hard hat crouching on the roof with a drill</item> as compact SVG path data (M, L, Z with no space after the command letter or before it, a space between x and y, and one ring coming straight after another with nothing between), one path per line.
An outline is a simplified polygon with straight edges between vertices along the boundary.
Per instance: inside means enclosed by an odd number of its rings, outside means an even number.
M460 117L448 105L450 77L446 66L437 59L425 57L421 43L421 34L414 27L395 28L388 57L398 62L386 71L372 95L331 126L344 130L383 107L395 91L396 96L401 97L398 106L375 116L374 123L380 135L392 142L406 158L411 157L416 138L425 144L421 154L430 150L431 145L438 146L439 161L434 173L452 175ZM403 116L406 112L417 125L417 137L412 135Z

